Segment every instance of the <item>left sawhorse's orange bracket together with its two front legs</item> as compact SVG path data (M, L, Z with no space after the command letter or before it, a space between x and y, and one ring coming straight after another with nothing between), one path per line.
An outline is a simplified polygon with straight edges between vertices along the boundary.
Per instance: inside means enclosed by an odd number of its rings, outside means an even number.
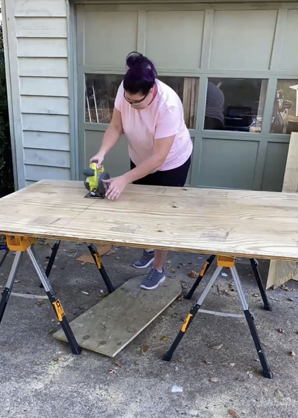
M11 267L11 270L8 276L7 283L1 293L2 296L0 300L0 323L2 321L5 308L8 303L8 300L9 300L9 297L13 288L13 283L15 280L15 276L18 272L21 258L23 256L23 253L26 251L31 259L31 262L33 264L34 269L36 270L36 273L41 281L41 284L44 290L46 291L46 295L48 296L48 299L51 305L53 306L54 312L69 342L71 351L73 352L73 354L80 354L82 352L82 349L79 347L79 344L76 342L74 334L71 331L71 328L69 326L69 322L66 319L65 312L64 312L64 309L62 308L61 302L59 298L55 296L53 289L51 287L51 283L48 281L48 277L46 276L46 273L43 270L43 267L36 255L35 249L33 247L33 245L37 241L36 238L7 236L6 239L7 239L7 246L9 250L16 251L16 253L15 253L15 258L13 260L13 265Z

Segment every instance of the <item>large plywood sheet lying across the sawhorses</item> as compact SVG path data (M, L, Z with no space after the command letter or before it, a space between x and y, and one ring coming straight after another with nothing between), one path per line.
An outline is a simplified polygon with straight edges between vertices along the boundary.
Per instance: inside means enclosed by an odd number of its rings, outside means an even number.
M129 185L86 199L83 182L43 180L0 199L0 233L298 260L298 194Z

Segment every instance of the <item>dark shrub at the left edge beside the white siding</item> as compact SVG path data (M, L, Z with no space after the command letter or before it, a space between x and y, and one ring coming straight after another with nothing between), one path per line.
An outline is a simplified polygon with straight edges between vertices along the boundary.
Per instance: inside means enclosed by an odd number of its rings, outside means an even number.
M13 163L10 145L3 33L0 24L0 197L13 191Z

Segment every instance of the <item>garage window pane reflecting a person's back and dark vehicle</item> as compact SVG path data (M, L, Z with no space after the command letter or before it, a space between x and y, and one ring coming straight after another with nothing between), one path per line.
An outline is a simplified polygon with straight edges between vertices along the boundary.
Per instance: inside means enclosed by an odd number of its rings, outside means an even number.
M210 78L204 129L261 132L267 80Z

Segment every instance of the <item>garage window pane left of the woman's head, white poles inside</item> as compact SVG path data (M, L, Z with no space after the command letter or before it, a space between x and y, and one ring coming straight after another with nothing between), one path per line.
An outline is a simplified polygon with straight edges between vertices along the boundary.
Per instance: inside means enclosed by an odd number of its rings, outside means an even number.
M123 75L86 74L85 121L110 123Z

